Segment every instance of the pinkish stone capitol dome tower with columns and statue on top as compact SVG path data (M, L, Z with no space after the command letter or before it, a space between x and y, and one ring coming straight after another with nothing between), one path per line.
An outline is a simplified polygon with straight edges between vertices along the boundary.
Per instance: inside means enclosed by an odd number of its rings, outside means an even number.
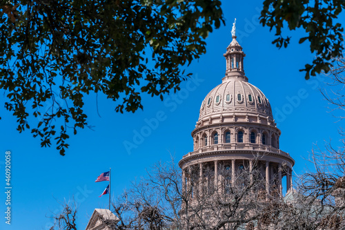
M271 191L283 194L284 177L286 193L291 190L295 161L279 148L281 131L273 119L270 102L244 75L246 55L236 40L235 23L232 35L224 54L225 76L201 102L199 119L191 133L193 151L179 161L182 180L186 189L192 183L190 172L196 170L198 177L204 178L208 169L210 178L202 183L224 191L224 184L238 186L241 171L252 175L255 169L265 180L262 187L268 199L273 195ZM231 176L226 176L225 171L230 171ZM250 182L253 180L250 176Z

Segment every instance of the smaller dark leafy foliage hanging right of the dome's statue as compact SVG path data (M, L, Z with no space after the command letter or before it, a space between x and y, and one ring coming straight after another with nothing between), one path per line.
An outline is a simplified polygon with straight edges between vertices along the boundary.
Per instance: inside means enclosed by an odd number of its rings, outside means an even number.
M333 60L342 57L344 50L344 26L337 22L337 17L345 9L344 0L299 0L280 1L265 0L261 12L260 23L275 29L277 39L273 41L278 48L286 48L291 37L284 37L282 30L302 28L307 34L299 39L299 44L308 40L311 52L316 55L311 64L306 64L305 78L316 74L328 73L333 66Z

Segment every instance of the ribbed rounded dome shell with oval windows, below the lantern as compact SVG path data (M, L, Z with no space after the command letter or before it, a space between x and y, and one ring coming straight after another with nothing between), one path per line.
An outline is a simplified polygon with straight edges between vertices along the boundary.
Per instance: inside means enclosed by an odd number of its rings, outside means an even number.
M246 77L224 77L223 82L210 90L201 103L199 120L211 115L247 113L273 120L270 102Z

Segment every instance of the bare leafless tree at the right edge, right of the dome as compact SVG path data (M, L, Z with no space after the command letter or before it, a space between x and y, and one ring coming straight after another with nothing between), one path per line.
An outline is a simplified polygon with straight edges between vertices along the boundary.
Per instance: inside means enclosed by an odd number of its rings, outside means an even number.
M322 94L330 103L332 111L345 110L345 59L335 60L337 65L327 74L332 86ZM340 119L345 116L337 115ZM309 161L313 169L299 175L295 191L284 202L275 206L277 218L266 218L272 229L345 229L345 140L342 129L340 146L326 144L316 147ZM273 209L274 210L274 209ZM268 214L276 213L270 211Z

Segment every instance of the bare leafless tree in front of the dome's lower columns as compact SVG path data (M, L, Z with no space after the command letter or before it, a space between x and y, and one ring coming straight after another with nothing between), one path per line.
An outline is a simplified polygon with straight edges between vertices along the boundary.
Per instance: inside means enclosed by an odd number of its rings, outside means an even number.
M157 163L113 205L117 229L243 229L254 226L280 203L278 193L266 195L258 169L244 167L235 178L219 165L219 179L210 166L190 168L188 182L174 163ZM215 184L215 181L218 181ZM276 194L276 195L272 195Z

